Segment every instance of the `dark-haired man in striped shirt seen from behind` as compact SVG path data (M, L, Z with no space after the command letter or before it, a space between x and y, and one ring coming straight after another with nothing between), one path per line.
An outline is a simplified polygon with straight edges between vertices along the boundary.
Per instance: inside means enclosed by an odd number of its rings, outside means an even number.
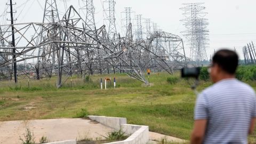
M220 50L209 73L213 85L198 95L191 143L247 143L256 118L256 97L247 84L235 79L238 55Z

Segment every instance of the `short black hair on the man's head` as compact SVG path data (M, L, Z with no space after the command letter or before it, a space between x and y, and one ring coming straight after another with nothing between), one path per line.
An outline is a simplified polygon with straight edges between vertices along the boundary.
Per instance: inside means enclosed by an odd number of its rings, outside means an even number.
M217 63L219 67L226 71L228 74L235 74L238 66L238 55L234 51L230 50L219 50L214 54L213 65Z

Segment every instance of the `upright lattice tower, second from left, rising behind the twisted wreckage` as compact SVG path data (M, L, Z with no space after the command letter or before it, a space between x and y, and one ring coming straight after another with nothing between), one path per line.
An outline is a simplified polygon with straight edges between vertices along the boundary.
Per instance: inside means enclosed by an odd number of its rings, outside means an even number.
M95 21L94 21L94 6L93 6L93 0L82 0L83 3L85 3L85 6L82 7L82 10L86 10L86 19L85 19L85 29L95 31Z

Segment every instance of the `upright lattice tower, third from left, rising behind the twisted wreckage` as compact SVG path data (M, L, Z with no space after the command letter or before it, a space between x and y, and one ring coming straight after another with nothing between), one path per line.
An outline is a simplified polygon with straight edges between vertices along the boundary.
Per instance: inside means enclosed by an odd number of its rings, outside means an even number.
M109 22L108 26L108 35L111 39L115 39L117 36L116 32L116 18L115 18L115 4L114 0L106 0L104 3L107 3L107 9L104 9L105 13L107 14L107 19Z

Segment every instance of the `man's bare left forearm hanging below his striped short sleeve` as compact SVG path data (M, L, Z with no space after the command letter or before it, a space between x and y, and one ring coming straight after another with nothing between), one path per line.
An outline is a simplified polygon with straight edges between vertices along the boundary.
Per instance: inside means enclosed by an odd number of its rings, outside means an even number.
M191 144L202 143L206 129L207 119L196 120L194 123L194 130L191 134Z

